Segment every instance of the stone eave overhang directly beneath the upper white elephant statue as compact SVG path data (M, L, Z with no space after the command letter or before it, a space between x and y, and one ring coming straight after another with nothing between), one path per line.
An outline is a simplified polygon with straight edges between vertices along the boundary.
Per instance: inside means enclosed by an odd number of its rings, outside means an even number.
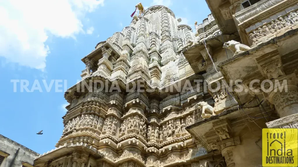
M234 82L232 85L235 86L235 81L239 79L243 80L242 86L246 88L246 85L249 85L249 83L254 79L258 79L260 82L267 79L266 76L263 76L263 72L260 70L260 65L256 60L257 58L276 52L276 54L279 54L283 60L286 60L287 56L291 56L291 54L288 53L291 53L298 48L298 44L296 42L297 38L298 29L287 31L279 37L274 37L267 42L257 45L255 48L239 53L223 62L220 62L218 67L220 68L220 71L228 85L231 80ZM294 66L294 64L291 65ZM284 66L284 64L282 64L282 66ZM237 71L241 71L241 73L238 73ZM293 73L293 71L289 70L289 72L285 74L289 75L291 73ZM246 103L247 99L252 98L252 95L250 95L249 92L230 93L234 95L235 100L237 100L239 104Z

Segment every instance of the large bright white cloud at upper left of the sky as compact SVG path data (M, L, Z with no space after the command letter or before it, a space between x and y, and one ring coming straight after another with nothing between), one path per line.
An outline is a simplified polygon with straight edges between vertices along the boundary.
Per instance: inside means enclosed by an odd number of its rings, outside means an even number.
M0 56L39 70L46 67L49 35L72 37L83 33L86 12L104 0L6 0L0 2Z

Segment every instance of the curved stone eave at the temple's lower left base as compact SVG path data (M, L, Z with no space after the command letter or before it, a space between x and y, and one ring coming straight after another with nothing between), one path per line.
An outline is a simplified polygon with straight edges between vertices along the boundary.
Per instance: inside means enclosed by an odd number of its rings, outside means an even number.
M34 166L43 166L45 162L48 160L54 159L60 155L72 154L74 150L82 150L86 151L89 154L93 155L96 158L103 157L103 154L100 153L96 148L89 146L83 143L76 143L76 144L64 144L63 146L59 146L51 151L48 151L42 155L39 155L34 160Z

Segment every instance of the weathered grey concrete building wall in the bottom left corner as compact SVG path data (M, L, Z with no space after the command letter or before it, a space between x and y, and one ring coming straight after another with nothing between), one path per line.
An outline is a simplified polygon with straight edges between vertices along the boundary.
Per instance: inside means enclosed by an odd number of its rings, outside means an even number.
M10 154L5 157L0 167L22 167L22 163L33 164L39 154L9 138L0 135L0 151Z

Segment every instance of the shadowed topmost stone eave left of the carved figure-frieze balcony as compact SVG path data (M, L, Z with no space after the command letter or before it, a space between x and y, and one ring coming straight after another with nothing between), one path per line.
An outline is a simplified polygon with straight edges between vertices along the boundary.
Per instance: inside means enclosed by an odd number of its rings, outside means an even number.
M211 13L218 24L219 28L221 29L221 32L223 34L232 34L237 32L237 28L235 25L234 20L231 18L225 18L222 14L222 10L219 10L223 4L229 3L229 0L205 0L207 2L207 5L209 9L211 10ZM225 5L226 6L226 5Z

